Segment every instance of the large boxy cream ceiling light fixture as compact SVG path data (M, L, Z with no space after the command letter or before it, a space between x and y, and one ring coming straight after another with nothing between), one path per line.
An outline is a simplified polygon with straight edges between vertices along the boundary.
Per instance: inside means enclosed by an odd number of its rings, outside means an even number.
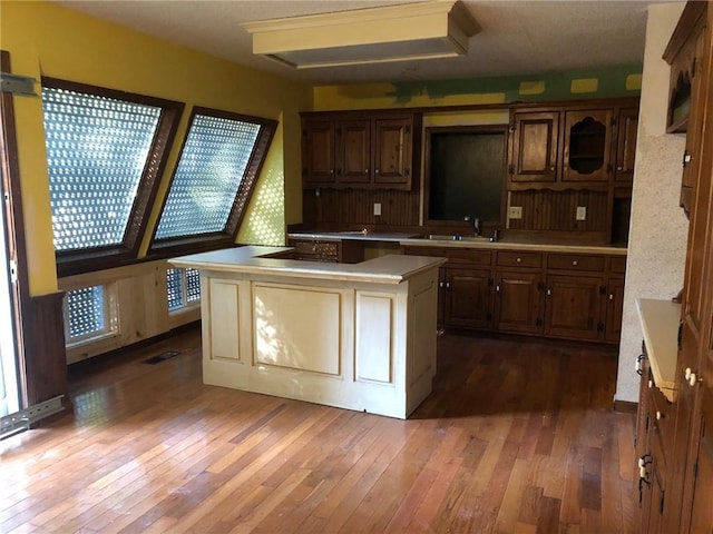
M253 53L296 69L452 58L480 27L460 2L426 1L241 24Z

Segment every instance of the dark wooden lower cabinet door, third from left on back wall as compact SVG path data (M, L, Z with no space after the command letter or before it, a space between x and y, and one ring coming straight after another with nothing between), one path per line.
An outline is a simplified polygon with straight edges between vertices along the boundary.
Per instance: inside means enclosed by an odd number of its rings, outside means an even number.
M600 317L600 277L550 276L547 279L545 334L576 339L596 339Z

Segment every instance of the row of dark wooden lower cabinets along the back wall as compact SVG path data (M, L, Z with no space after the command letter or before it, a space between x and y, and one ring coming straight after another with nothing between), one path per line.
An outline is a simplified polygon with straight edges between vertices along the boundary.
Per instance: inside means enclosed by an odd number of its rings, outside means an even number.
M440 256L441 327L617 343L625 258L408 246Z

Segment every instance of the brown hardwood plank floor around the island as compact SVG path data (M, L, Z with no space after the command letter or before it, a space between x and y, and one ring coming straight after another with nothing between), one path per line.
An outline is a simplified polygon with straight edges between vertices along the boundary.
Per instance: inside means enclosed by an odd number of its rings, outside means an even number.
M607 348L446 335L398 421L204 386L184 333L72 367L75 414L0 442L0 531L633 533L615 374Z

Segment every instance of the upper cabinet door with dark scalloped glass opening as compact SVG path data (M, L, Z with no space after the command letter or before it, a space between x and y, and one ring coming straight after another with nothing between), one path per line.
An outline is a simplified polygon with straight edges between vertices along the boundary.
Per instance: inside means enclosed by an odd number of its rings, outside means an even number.
M607 181L612 172L611 109L567 111L563 150L563 181Z

